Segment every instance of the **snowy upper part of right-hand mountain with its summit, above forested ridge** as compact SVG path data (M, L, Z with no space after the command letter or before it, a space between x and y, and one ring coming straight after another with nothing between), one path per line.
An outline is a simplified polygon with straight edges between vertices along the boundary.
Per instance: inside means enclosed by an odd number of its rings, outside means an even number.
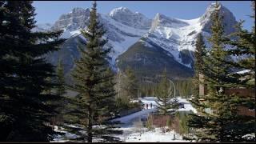
M210 47L206 39L210 36L210 15L214 9L214 3L212 3L207 7L205 14L190 20L168 18L163 14L156 14L149 32L143 36L143 39L168 51L170 56L174 56L175 60L183 66L192 68L193 61L191 60L194 59L195 40L199 33L205 37L206 46ZM234 32L233 26L236 24L234 15L225 6L220 5L218 9L224 16L222 22L225 33ZM186 53L186 59L191 60L184 62L182 51Z

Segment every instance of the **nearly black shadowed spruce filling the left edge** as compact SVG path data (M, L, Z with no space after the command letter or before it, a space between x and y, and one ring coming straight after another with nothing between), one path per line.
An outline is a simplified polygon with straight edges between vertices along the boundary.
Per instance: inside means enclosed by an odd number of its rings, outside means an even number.
M36 32L30 1L0 2L0 141L49 142L49 126L55 114L50 105L58 96L44 93L54 83L54 66L45 54L58 50L64 41L58 32Z

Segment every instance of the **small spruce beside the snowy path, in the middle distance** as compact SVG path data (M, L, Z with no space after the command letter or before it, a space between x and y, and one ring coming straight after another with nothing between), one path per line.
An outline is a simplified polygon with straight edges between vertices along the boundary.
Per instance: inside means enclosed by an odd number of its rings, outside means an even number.
M155 91L158 104L158 109L161 114L168 114L168 110L178 110L178 99L174 96L174 90L166 75L166 69L162 73L162 81L158 84Z

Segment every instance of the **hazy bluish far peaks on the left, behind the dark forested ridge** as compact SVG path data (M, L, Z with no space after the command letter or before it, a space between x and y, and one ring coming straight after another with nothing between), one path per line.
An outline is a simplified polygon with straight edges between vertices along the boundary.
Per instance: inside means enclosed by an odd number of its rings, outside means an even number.
M51 29L64 30L62 38L70 38L79 34L79 37L82 37L80 30L86 29L89 16L90 9L74 8L70 13L62 14ZM127 19L130 23L125 21ZM150 29L149 18L138 12L131 12L125 7L116 8L110 14L98 14L98 20L106 29L104 37L109 40L106 46L113 47L110 52L113 66L118 55L124 53Z

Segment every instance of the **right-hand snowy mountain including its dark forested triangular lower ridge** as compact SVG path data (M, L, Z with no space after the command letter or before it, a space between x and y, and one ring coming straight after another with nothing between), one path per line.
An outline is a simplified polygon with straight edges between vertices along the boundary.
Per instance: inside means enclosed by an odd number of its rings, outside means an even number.
M218 9L223 16L225 33L234 32L233 26L237 23L234 15L225 6L221 5ZM125 68L128 65L143 73L151 70L150 73L154 73L152 76L164 68L171 78L192 76L195 40L197 35L202 33L206 46L210 47L207 38L210 36L210 16L213 12L214 4L211 4L205 14L190 20L156 14L150 30L118 57L118 67Z

